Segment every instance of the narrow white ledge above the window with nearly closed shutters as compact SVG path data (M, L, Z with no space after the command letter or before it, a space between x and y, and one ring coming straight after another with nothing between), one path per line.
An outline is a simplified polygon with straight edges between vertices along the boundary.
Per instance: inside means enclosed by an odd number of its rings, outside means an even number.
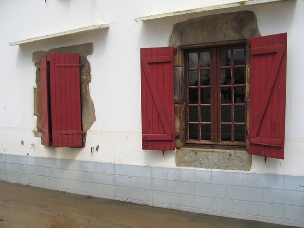
M57 33L32 37L32 38L28 38L28 39L21 40L21 41L11 42L11 43L9 43L9 46L24 45L24 44L32 43L35 41L47 40L47 39L50 39L53 37L60 37L60 36L64 36L64 35L75 34L75 33L86 32L86 31L93 31L93 30L108 28L108 27L109 27L109 24L95 24L95 25L91 25L91 26L87 26L87 27L75 28L75 29L71 29L71 30L67 30L67 31L61 31L61 32L57 32Z

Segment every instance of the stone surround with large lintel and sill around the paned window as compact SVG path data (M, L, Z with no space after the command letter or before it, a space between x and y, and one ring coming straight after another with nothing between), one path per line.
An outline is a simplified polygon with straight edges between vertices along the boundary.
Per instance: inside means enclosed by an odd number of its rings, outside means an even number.
M174 55L174 100L176 166L226 170L250 170L252 157L244 148L228 146L185 145L185 87L184 51L221 45L246 44L246 84L249 85L250 48L248 41L260 36L257 19L251 11L240 11L188 19L174 24L169 46L176 48ZM246 91L249 107L249 86ZM247 129L249 109L247 108ZM248 140L247 140L248 143ZM247 146L248 147L248 146Z

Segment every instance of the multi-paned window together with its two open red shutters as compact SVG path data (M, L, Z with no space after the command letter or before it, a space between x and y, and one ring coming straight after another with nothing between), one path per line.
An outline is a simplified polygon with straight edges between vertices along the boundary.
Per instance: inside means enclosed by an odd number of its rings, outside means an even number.
M245 146L249 119L249 154L283 159L287 33L250 42L250 101L245 45L186 50L184 86L173 47L141 49L142 148L174 149L183 130L185 143ZM185 102L174 101L183 90Z

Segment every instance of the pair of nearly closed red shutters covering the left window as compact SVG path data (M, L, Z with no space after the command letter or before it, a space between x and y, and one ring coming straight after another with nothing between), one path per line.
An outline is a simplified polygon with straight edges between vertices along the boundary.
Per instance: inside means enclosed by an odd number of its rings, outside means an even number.
M83 145L78 53L50 53L40 60L42 144Z

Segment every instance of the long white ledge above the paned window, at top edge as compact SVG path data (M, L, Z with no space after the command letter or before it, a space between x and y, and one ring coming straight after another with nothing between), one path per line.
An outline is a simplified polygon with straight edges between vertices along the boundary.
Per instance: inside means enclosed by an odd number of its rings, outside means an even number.
M183 14L191 14L191 13L198 13L198 12L203 12L203 11L220 10L220 9L226 9L226 8L232 8L232 7L242 7L242 6L248 6L248 5L281 2L281 1L287 1L287 0L246 0L246 1L227 3L227 4L205 6L205 7L195 8L195 9L167 12L167 13L162 13L162 14L147 15L147 16L137 17L134 20L135 21L148 21L148 20L153 20L153 19L183 15Z

